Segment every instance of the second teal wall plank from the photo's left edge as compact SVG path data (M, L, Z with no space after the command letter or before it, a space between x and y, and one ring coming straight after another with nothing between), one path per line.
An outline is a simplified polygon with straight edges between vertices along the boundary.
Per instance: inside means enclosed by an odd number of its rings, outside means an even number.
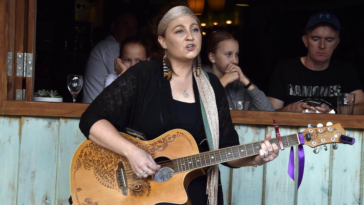
M55 204L58 117L22 117L17 204ZM66 187L65 187L66 188Z

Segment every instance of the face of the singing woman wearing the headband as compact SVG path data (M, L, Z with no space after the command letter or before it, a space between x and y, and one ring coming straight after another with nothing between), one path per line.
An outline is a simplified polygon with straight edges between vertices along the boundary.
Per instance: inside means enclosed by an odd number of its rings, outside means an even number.
M165 38L159 36L169 59L189 61L201 50L201 32L197 20L191 16L179 16L171 21L165 30Z

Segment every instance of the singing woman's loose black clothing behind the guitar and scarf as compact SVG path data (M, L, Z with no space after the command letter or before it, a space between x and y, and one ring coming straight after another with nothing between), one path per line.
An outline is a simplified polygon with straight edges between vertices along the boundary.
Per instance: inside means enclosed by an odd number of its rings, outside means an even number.
M91 126L101 119L108 120L120 132L124 132L125 127L142 132L149 140L184 126L196 140L199 151L208 151L207 140L201 143L206 136L196 81L193 78L195 103L186 105L196 110L194 121L197 123L193 126L189 122L181 122L185 121L185 116L178 113L181 113L183 105L180 107L177 105L179 102L173 100L170 82L163 78L162 71L161 61L142 61L130 67L107 86L82 114L79 127L83 134L88 137ZM225 90L213 73L208 75L218 110L219 148L238 145L238 134L232 124ZM190 117L193 117L192 114L186 113ZM191 181L188 193L193 204L207 203L206 175ZM218 189L218 201L223 204L221 186Z

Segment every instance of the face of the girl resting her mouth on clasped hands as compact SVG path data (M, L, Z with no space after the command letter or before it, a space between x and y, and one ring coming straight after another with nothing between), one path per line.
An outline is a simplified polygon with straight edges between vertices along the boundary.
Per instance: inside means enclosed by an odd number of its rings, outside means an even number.
M223 40L217 45L214 54L209 54L209 59L222 73L224 73L230 63L239 63L239 43L234 39ZM212 58L211 58L212 57Z

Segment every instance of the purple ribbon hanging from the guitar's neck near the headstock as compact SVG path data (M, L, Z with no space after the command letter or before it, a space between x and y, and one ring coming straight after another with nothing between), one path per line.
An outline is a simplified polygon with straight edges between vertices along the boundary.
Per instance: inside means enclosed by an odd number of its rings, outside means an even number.
M302 144L305 144L305 140L302 132L298 133L298 137L300 138L300 145L298 145L298 188L300 188L302 178L303 178L303 170L305 168L305 152L303 151ZM289 177L294 181L294 152L293 147L291 147L291 151L289 153L289 161L288 161L288 171Z

